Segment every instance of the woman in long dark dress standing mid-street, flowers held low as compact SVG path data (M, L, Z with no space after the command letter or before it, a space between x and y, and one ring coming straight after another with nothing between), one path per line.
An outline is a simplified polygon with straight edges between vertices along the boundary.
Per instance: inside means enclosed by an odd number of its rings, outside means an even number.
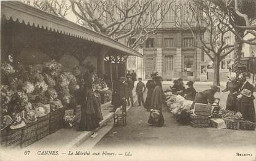
M162 89L162 77L155 77L155 88L151 98L151 113L148 123L156 127L162 127L164 124L162 108L164 104L164 93Z

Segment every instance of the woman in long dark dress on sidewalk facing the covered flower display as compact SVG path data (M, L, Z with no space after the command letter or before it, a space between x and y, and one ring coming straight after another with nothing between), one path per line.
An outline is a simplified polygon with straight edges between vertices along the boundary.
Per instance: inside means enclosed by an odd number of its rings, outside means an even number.
M99 122L101 121L101 104L99 100L95 98L93 93L93 71L94 68L91 66L89 71L84 75L84 96L85 101L83 101L81 107L81 121L78 126L78 131L92 131L99 127Z

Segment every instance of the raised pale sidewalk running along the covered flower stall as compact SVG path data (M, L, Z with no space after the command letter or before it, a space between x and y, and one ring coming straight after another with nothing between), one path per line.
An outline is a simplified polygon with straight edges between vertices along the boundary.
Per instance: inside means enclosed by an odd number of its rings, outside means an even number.
M135 88L133 90L133 100L134 103L137 101ZM114 112L109 112L110 101L101 105L101 111L103 115L103 120L100 122L100 127L96 128L96 131L104 127L104 125L113 119ZM127 107L127 111L131 108L131 106ZM76 132L76 128L61 128L55 133L46 136L39 141L31 144L26 149L40 149L43 147L46 148L58 148L58 149L72 149L74 147L79 146L86 139L88 139L94 132Z

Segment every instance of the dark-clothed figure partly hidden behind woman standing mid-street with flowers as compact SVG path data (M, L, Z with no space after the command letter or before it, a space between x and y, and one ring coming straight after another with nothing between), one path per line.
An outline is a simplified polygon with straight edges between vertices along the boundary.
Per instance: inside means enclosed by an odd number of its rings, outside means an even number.
M153 81L153 78L157 76L158 73L152 73L151 74L151 79L149 79L146 83L146 87L147 87L147 98L144 104L144 108L147 109L147 111L149 111L149 109L151 109L151 97L152 97L152 93L153 90L155 88L155 83Z

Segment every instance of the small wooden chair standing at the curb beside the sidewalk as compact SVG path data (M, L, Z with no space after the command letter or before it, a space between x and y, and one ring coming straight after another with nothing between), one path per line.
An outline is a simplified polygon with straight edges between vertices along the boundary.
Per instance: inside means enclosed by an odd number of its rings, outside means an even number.
M123 126L127 124L126 122L126 102L123 103L121 108L117 109L117 111L114 112L114 126L117 126L119 122L123 122Z

